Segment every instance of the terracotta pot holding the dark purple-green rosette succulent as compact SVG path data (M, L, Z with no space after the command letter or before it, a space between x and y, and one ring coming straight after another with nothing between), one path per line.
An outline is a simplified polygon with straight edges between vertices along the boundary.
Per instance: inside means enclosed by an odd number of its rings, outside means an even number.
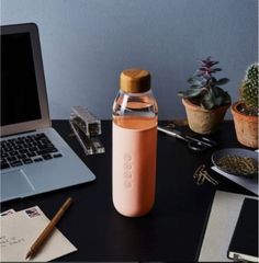
M214 108L205 110L191 103L187 99L182 99L185 106L189 127L198 134L215 133L224 119L225 113L230 104Z

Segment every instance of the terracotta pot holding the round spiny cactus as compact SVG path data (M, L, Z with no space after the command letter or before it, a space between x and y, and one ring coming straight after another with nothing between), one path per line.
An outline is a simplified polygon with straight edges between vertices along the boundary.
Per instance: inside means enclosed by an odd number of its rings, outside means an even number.
M248 147L258 148L258 116L249 116L238 111L240 102L232 105L237 140Z

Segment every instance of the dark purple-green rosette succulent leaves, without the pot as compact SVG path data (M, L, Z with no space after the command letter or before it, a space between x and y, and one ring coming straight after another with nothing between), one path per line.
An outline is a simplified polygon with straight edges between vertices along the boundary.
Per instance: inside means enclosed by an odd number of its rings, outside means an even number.
M192 103L206 110L219 107L230 103L229 94L218 85L226 84L229 79L216 79L214 75L222 71L221 68L214 67L218 61L212 60L212 57L200 60L201 67L194 76L188 79L190 89L179 91L178 95L189 99Z

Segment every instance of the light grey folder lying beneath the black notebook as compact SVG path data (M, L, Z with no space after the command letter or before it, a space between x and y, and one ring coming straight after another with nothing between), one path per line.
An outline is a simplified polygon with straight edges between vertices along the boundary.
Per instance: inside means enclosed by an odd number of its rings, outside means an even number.
M245 197L243 194L216 191L209 220L202 235L202 247L199 262L233 262L227 258L227 250L241 210Z

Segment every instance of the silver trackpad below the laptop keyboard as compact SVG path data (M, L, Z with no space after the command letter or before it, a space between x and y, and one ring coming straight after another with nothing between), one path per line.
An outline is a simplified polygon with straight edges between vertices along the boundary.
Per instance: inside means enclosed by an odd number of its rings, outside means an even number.
M34 187L23 170L1 174L1 199L23 197L34 192Z

